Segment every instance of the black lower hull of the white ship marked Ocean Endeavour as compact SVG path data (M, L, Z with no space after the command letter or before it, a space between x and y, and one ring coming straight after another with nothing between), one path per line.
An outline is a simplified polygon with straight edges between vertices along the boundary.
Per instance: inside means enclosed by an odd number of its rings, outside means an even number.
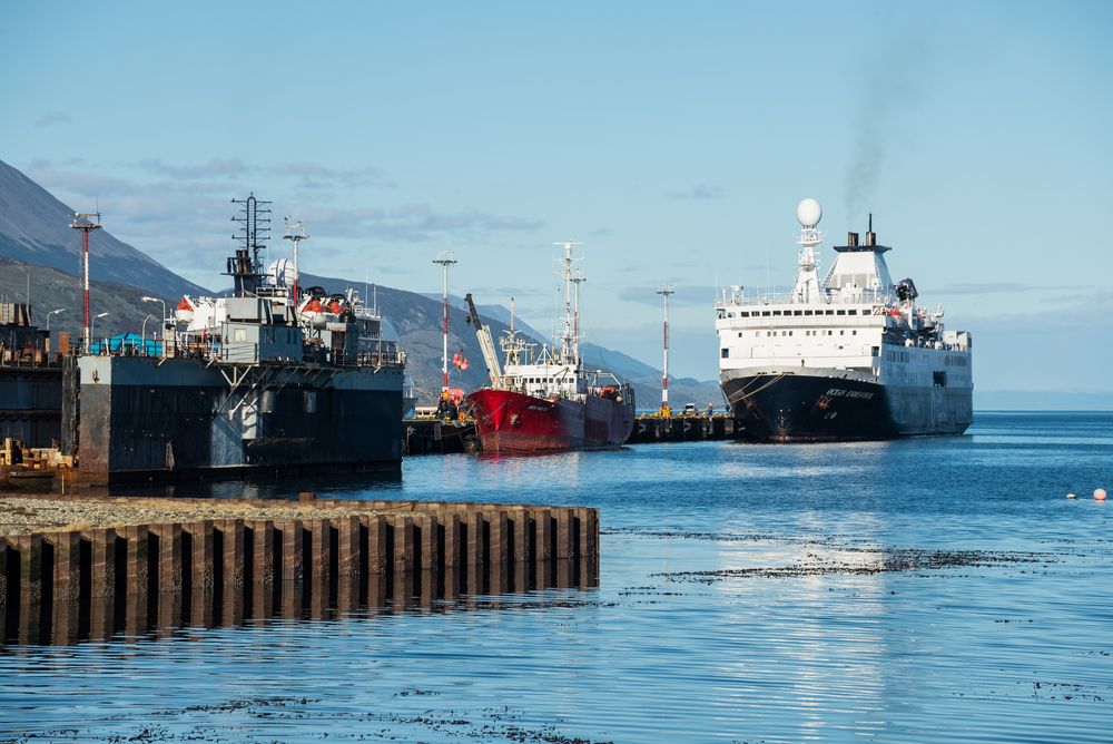
M722 391L741 438L757 442L962 434L973 419L969 389L886 385L840 370L725 372Z

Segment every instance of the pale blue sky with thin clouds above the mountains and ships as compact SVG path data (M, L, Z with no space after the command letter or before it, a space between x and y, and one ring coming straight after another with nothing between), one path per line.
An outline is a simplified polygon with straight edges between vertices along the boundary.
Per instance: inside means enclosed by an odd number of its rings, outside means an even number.
M874 213L981 390L1113 391L1113 3L3 2L0 159L205 286L254 190L319 274L518 298L717 376L713 287ZM280 232L280 231L279 231ZM276 248L280 241L274 241Z

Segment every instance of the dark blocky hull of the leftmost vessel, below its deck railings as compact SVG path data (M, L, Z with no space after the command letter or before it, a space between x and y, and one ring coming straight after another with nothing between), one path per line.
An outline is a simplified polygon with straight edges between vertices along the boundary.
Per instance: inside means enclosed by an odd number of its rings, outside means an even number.
M396 470L402 372L273 365L230 386L195 360L80 360L79 468L108 482Z

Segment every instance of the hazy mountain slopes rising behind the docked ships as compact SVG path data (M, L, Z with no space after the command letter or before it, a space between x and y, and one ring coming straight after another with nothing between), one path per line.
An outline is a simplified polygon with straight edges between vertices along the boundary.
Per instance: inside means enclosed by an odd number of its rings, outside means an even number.
M81 238L69 226L72 214L71 207L16 168L0 161L0 300L24 302L29 284L32 317L39 325L46 326L50 311L65 309L50 316L53 331L77 331L82 320L78 280ZM138 333L149 314L154 314L155 319L161 315L162 307L158 303L142 302L144 295L162 298L170 313L184 294L216 294L178 276L141 251L112 237L107 229L91 233L89 243L93 256L90 262L93 313L108 312L96 322L97 336L124 331ZM302 275L303 286L314 284L331 292L365 285L363 280ZM414 378L421 402L435 402L441 389L440 295L385 286L377 286L375 294L380 312L391 321L402 339L408 355L407 371ZM365 300L371 302L371 297ZM496 339L508 330L508 309L480 305L477 310ZM487 381L475 329L466 322L466 315L463 300L453 297L449 307L449 354L461 352L469 360L469 369L450 369L450 385L465 391ZM157 320L147 320L148 334L154 333L156 326ZM548 334L531 329L520 319L515 320L515 326L538 343L548 339ZM639 408L652 409L660 402L659 370L597 344L584 343L583 354L588 366L607 370L633 383ZM715 382L670 379L670 392L674 408L686 402L695 402L702 408L708 401L713 401L716 407L721 405L721 395Z

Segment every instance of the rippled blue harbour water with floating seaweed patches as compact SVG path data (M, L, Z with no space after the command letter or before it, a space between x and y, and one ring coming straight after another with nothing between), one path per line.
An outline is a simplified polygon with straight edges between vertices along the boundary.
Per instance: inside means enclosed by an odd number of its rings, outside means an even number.
M0 738L1109 742L1099 486L1109 413L410 459L337 492L599 506L599 588L8 647Z

